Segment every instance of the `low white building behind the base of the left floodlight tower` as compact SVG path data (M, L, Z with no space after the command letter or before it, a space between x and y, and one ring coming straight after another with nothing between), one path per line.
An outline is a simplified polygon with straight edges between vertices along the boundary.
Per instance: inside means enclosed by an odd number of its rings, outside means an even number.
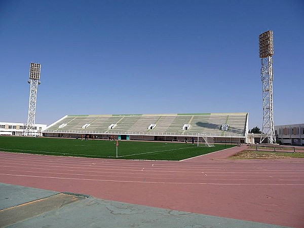
M23 123L0 122L0 135L22 135L25 128L26 124ZM42 136L42 131L46 128L46 124L35 124L34 131Z

